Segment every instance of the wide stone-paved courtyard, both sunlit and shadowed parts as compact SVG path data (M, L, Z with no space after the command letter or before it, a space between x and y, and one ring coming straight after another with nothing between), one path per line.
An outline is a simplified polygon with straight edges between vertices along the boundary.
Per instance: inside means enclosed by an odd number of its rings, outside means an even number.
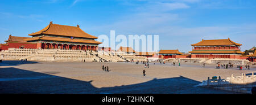
M102 71L108 65L110 72ZM197 87L207 77L239 76L236 68L215 69L214 64L153 63L150 68L135 63L98 62L21 62L3 61L0 64L0 93L231 93ZM142 70L146 70L146 76Z

